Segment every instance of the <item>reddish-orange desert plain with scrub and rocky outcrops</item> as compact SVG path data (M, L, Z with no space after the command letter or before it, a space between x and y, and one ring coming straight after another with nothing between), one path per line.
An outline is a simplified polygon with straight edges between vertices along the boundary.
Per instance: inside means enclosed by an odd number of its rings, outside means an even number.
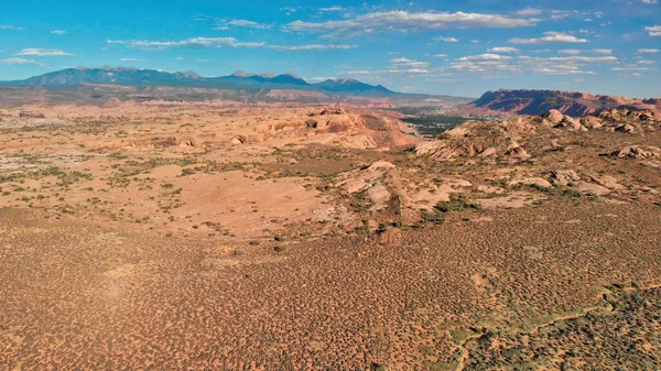
M0 110L0 370L658 370L661 123Z

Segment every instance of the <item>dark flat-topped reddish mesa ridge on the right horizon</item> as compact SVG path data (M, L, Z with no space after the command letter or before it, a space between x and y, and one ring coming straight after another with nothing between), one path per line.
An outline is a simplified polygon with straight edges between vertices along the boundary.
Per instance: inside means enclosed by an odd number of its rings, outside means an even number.
M657 111L658 100L635 99L614 96L589 95L560 90L510 90L500 89L485 92L467 108L481 108L517 114L542 114L556 109L564 114L579 117L611 108L649 109Z

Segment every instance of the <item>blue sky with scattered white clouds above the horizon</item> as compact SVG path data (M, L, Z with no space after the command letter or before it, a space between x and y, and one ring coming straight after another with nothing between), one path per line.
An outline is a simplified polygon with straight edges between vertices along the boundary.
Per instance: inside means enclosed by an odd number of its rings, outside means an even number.
M661 0L7 0L0 80L74 66L292 72L411 92L661 96Z

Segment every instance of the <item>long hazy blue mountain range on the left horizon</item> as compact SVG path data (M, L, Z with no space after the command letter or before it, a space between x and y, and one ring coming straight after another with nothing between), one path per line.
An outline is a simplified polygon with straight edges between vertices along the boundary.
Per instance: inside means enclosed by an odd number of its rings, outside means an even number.
M177 86L219 89L294 89L321 91L327 95L397 96L381 85L369 85L355 79L328 79L308 84L293 74L249 74L237 72L229 76L202 77L194 72L167 73L133 67L77 67L47 73L18 81L0 85L12 86L64 86L83 84L115 84L134 86Z

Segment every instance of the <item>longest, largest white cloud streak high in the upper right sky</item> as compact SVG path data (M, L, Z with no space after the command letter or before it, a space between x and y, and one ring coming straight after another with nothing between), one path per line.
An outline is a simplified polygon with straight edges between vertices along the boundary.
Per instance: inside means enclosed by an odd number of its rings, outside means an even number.
M407 32L409 30L516 28L533 25L537 21L499 14L388 11L367 13L340 21L294 21L288 23L284 30L324 33L326 37L349 37L380 30Z

